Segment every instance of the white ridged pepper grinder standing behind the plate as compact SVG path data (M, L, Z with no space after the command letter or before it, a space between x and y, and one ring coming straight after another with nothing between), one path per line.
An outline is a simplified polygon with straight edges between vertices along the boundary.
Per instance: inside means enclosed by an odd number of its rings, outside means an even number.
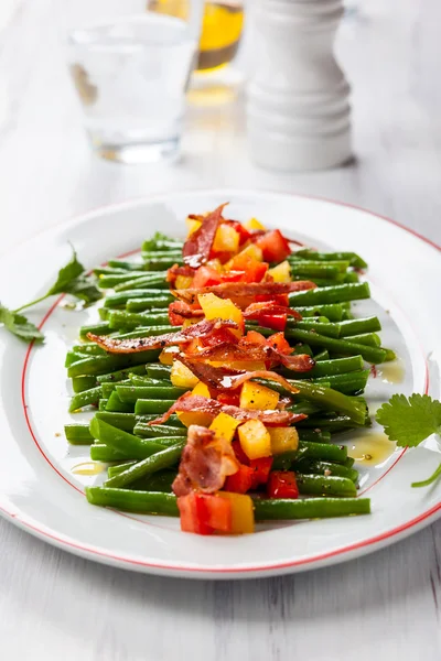
M333 53L342 0L252 4L251 159L286 172L343 164L352 155L349 86Z

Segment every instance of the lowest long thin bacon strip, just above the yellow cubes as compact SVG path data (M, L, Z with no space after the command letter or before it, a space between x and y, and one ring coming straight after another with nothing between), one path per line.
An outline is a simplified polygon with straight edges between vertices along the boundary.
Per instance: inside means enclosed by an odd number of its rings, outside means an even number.
M223 404L217 400L186 392L185 394L182 394L165 413L148 424L163 424L171 415L173 415L173 413L176 413L176 411L207 413L213 419L216 418L218 413L223 412L243 422L246 422L247 420L260 420L268 426L283 426L292 422L300 422L306 418L303 413L297 414L290 413L289 411L255 411L250 409L240 409L239 407Z

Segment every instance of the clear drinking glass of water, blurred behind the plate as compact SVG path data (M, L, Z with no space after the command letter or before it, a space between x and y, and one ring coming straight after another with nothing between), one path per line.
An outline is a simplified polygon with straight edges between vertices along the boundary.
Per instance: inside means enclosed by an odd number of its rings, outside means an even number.
M125 163L179 156L203 1L192 20L143 13L71 31L68 63L99 155Z

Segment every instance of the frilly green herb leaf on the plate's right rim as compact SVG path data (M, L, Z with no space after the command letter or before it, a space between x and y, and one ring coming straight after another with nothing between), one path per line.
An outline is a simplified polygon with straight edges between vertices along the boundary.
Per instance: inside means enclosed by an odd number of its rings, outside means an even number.
M411 394L409 399L394 394L376 418L390 441L401 447L415 447L431 434L441 433L441 402L428 394Z

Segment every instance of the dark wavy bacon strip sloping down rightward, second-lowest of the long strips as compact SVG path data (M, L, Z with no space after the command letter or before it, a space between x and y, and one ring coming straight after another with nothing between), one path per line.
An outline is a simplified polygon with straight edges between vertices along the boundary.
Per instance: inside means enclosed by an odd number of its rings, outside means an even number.
M205 365L192 360L189 356L185 356L185 354L180 354L178 359L185 365L200 381L213 390L235 390L250 379L268 379L270 381L277 381L293 394L299 392L298 388L287 381L284 377L270 370L238 371L226 367L213 367L213 365Z

